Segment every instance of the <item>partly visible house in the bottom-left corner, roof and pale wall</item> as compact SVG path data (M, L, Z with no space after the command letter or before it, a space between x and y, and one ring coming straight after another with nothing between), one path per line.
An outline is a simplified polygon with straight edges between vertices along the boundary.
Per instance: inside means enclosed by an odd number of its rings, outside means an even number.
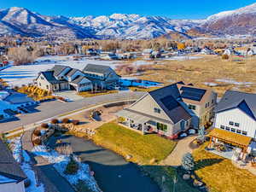
M0 191L26 192L26 175L13 158L7 146L0 140Z

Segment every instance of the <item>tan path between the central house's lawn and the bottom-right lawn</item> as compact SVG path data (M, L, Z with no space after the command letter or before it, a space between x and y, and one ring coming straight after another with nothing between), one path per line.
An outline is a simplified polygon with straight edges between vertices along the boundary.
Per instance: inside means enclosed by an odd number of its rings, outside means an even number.
M185 137L178 141L176 147L172 151L172 154L161 162L165 166L180 166L183 154L192 153L192 148L189 148L189 143L191 143L196 136Z

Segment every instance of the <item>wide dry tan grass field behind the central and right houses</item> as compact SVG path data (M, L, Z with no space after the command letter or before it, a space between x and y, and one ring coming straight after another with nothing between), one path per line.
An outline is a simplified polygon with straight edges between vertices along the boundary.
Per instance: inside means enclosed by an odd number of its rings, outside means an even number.
M214 83L212 87L219 96L225 90L235 89L247 92L256 90L256 57L239 58L232 56L229 60L222 60L218 55L200 55L202 58L185 61L161 61L161 65L154 65L154 70L148 70L138 79L171 84L177 81L192 83L196 86L209 88L205 83ZM235 82L218 82L216 79L231 79ZM249 82L249 84L243 84ZM253 83L253 84L251 84Z

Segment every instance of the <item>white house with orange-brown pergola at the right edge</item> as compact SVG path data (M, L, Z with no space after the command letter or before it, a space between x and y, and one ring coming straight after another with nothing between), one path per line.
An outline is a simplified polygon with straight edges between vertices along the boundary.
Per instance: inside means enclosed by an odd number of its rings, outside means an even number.
M226 91L215 110L210 137L215 143L228 143L245 153L250 146L256 148L256 94Z

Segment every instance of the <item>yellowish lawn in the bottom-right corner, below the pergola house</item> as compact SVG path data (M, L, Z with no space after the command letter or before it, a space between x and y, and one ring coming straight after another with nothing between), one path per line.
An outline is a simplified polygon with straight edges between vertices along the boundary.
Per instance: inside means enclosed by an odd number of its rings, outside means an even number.
M236 168L230 160L204 150L207 143L195 149L196 175L207 186L221 192L255 192L256 176L247 170Z

